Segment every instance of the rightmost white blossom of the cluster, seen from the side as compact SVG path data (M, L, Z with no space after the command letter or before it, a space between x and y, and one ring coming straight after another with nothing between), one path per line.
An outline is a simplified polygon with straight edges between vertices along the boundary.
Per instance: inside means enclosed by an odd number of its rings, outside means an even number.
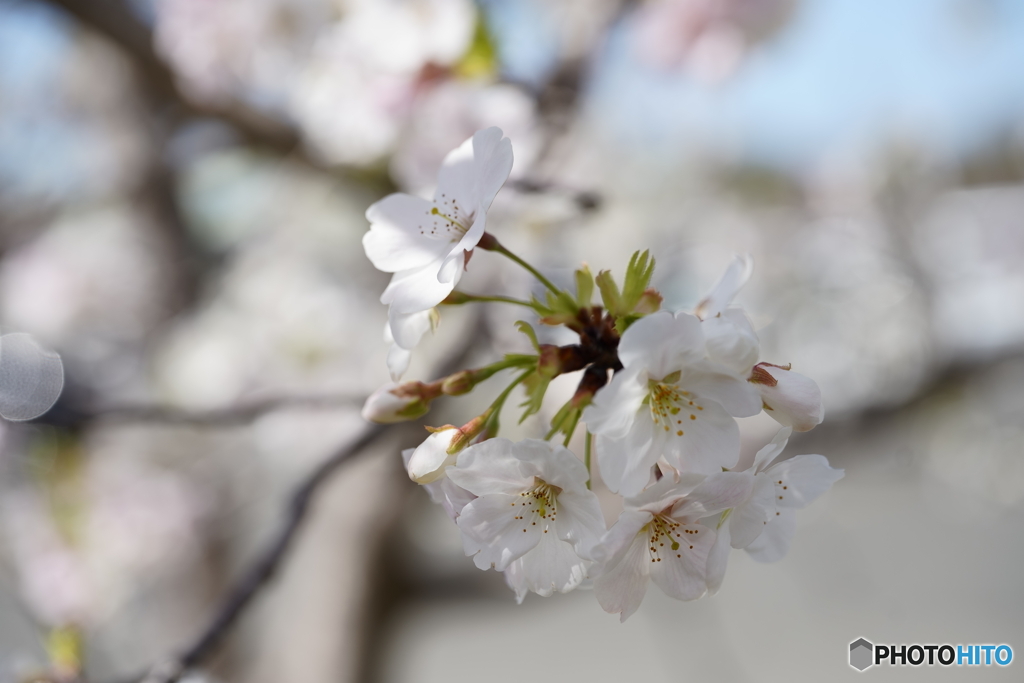
M824 456L797 456L773 465L792 433L790 427L780 429L745 470L754 474L750 496L723 515L708 559L708 588L712 593L718 591L725 578L730 549L746 549L759 562L781 559L797 530L796 511L843 478L843 470L829 467Z

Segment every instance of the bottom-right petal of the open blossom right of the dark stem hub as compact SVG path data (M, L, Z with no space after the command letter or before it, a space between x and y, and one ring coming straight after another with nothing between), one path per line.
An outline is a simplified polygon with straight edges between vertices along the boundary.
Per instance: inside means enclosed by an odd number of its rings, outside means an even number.
M735 466L739 460L739 427L721 405L696 397L692 407L675 417L676 429L664 432L665 459L673 467L682 472L714 474L723 467Z

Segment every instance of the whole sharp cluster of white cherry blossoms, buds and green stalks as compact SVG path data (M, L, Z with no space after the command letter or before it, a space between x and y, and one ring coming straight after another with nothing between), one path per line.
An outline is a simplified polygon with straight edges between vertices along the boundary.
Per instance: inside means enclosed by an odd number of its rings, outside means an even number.
M592 586L601 606L625 620L650 581L671 597L694 600L721 587L732 549L761 561L781 558L796 530L795 511L843 471L818 455L775 462L792 432L813 428L823 413L812 380L761 360L757 333L732 305L751 259L737 256L693 312L662 310L647 252L633 255L622 286L609 271L594 275L584 266L573 291L556 287L485 229L511 169L509 139L498 128L481 130L445 158L432 199L394 194L367 211L367 255L394 273L381 297L389 306L393 381L367 400L364 417L420 418L435 398L508 379L482 413L460 427L428 427L430 435L402 457L410 477L458 525L466 554L481 569L504 572L520 601L530 591L548 596ZM476 250L529 270L544 297L457 291ZM579 343L542 344L520 321L534 353L509 353L431 383L398 384L438 307L477 301L527 307L537 323L564 326ZM541 410L554 378L580 371L545 438L499 436L514 389L525 393L525 419ZM782 428L743 462L736 418L762 411ZM583 459L567 449L581 424ZM592 468L622 499L610 527L591 490Z

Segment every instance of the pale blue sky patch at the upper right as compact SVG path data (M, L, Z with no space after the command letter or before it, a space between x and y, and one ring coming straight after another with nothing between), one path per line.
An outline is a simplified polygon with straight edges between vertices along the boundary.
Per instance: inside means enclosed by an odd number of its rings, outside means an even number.
M589 106L631 144L701 145L784 166L895 136L955 155L1024 123L1024 3L805 0L717 86L638 62L625 27Z

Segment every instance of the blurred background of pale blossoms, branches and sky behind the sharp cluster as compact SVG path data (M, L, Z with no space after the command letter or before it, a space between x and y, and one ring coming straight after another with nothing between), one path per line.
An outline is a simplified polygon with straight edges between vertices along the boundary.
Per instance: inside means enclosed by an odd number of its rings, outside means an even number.
M0 0L0 332L66 372L0 424L0 681L123 681L195 638L387 380L364 211L490 125L515 167L488 229L556 282L650 248L691 307L752 253L762 357L824 397L788 453L846 477L782 561L734 553L718 596L652 590L620 625L585 591L517 606L399 429L190 680L820 681L858 637L1024 655L1024 4ZM473 266L466 291L531 286ZM445 310L407 378L521 349L520 316ZM748 451L777 427L742 423Z

